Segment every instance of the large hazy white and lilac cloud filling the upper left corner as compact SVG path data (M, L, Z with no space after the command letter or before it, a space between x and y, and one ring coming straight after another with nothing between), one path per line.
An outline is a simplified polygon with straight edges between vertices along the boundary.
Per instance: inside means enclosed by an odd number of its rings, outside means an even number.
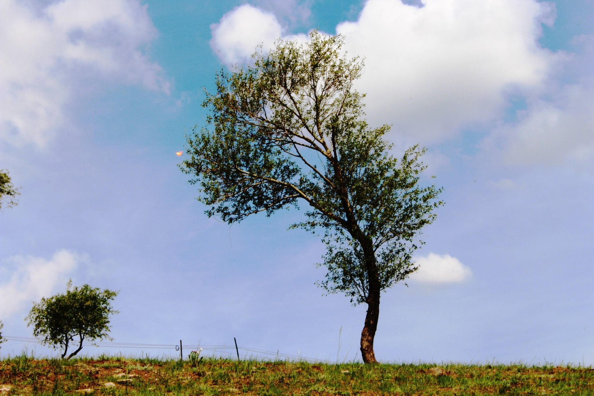
M143 48L156 36L138 0L0 2L0 141L42 148L68 123L75 76L169 92Z

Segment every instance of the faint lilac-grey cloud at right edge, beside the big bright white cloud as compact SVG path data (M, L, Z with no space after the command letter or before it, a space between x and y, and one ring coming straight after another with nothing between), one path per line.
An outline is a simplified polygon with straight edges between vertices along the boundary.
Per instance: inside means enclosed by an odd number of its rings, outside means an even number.
M565 65L564 84L550 84L546 97L531 97L514 121L485 140L509 164L587 164L594 157L594 37L580 37L583 50Z

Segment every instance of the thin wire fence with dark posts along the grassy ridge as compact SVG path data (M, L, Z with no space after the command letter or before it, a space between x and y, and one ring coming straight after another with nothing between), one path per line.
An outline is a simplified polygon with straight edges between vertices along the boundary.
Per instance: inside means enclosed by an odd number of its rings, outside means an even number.
M21 342L21 343L34 343L34 344L42 344L40 340L38 340L37 338L33 338L33 337L15 337L15 336L2 336L2 338L4 338L4 340L7 341L15 341L15 342ZM75 344L78 344L77 341L75 341ZM237 353L238 355L238 360L241 359L239 356L239 351L242 351L242 354L245 353L244 359L246 359L247 354L248 353L252 353L249 358L252 359L254 357L271 357L274 356L275 360L296 360L299 362L308 362L308 363L336 363L336 362L331 362L330 360L326 360L326 359L317 359L317 358L312 358L312 357L304 357L301 356L299 354L288 354L288 353L280 353L279 350L275 351L268 351L268 350L264 350L264 349L258 349L258 348L251 348L251 347L241 347L241 346L237 346L232 345L232 346L228 346L228 345L201 345L201 344L195 344L195 345L190 345L190 344L182 344L181 340L179 344L143 344L143 343L119 343L119 342L115 342L115 341L83 341L83 347L90 347L90 346L94 346L94 347L99 347L99 348L110 348L110 349L136 349L136 350L169 350L169 351L175 351L175 353L177 354L178 351L180 353L180 356L183 359L183 354L182 354L182 350L199 350L202 349L203 351L211 351L213 353L213 355L216 356L217 353L219 354L225 354L225 355L229 355L229 357L233 358L233 355L235 355L234 352ZM263 356L264 355L264 356ZM345 358L346 359L346 358Z

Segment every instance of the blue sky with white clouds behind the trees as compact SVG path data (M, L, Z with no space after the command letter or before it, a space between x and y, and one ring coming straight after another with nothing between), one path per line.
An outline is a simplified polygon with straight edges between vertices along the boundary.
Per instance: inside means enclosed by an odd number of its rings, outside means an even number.
M421 270L382 295L377 358L592 365L593 18L589 0L2 2L0 169L21 186L3 334L31 337L31 302L72 278L120 290L115 341L360 359L365 306L315 286L324 247L287 230L303 212L207 218L175 155L218 69L320 28L365 56L369 122L426 145L444 188ZM49 353L0 353L24 347Z

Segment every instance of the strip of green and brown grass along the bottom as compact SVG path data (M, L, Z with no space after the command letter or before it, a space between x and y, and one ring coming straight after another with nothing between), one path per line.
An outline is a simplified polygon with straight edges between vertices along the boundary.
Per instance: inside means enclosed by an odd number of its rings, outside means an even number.
M105 387L112 382L115 387ZM204 357L0 360L0 395L594 395L576 366L311 364ZM87 389L84 391L84 389Z

